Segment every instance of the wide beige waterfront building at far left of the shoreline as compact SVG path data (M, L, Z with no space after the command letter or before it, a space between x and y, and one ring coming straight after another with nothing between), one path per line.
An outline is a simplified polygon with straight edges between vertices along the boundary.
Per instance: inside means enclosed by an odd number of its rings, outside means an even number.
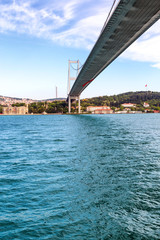
M4 115L25 115L28 114L28 107L3 107Z

